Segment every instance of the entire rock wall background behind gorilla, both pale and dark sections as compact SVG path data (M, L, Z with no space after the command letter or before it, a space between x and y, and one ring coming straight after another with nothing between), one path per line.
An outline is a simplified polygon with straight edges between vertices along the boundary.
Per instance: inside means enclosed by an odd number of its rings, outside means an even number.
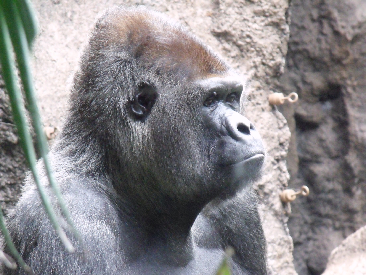
M321 274L332 249L366 224L365 0L292 0L290 8L287 0L33 4L40 26L33 75L45 126L62 128L72 71L97 14L113 4L143 4L182 22L251 79L245 114L268 151L255 188L272 274ZM297 92L299 102L270 106L275 88ZM12 117L0 80L0 203L7 213L27 166L14 126L1 122L12 123ZM288 181L293 188L310 188L309 197L291 203L292 213L279 199ZM344 247L357 243L347 240ZM326 272L338 270L334 263L349 251L333 253Z

